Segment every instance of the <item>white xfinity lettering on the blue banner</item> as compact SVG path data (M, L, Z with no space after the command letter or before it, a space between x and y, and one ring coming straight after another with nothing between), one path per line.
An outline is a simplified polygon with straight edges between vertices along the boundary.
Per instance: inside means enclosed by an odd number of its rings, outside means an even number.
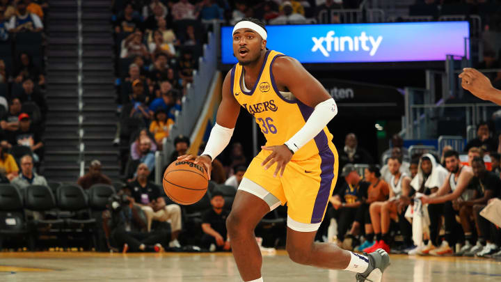
M370 56L376 54L382 36L378 36L377 40L373 36L367 37L364 31L360 33L360 36L341 36L334 37L335 31L328 31L325 37L312 37L315 45L312 48L312 52L317 52L319 50L321 54L328 57L330 52L369 52ZM369 47L370 46L370 47Z

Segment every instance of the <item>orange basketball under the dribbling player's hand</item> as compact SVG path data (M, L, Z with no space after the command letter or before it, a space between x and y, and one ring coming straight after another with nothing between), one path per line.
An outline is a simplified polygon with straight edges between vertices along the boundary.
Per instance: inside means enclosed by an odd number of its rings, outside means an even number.
M164 191L180 205L200 201L207 191L209 177L202 164L176 160L164 172Z

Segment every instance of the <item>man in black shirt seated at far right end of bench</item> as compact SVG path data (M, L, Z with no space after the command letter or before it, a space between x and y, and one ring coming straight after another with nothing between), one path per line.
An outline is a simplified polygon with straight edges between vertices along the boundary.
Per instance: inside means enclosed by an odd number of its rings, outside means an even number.
M461 226L465 232L466 244L463 246L460 254L475 255L483 248L485 241L492 244L494 238L491 238L491 231L488 221L479 215L489 199L495 198L500 195L501 180L498 175L486 170L484 159L482 157L475 157L472 160L473 178L468 185L468 189L472 191L472 199L468 201L459 201L456 206L459 207L459 217L461 218ZM468 191L468 190L467 190ZM472 226L470 218L475 215L475 224L477 228L478 240L477 244L473 246ZM487 226L482 228L482 226ZM491 250L495 253L495 249ZM489 254L489 253L486 253Z

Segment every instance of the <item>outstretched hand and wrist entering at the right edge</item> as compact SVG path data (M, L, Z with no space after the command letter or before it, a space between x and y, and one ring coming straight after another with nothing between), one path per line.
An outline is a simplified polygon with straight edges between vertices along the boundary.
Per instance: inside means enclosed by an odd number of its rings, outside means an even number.
M501 91L494 88L491 81L482 72L474 68L463 68L459 77L461 78L461 86L473 95L501 105Z

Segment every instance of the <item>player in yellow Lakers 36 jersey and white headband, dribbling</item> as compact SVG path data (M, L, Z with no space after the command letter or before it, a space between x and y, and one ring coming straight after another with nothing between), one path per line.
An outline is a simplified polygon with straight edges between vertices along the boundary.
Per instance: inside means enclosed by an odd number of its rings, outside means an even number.
M337 151L326 127L337 113L334 100L301 63L267 49L267 31L259 20L241 19L232 41L239 63L224 79L216 125L196 162L210 170L212 159L230 142L240 107L255 117L267 138L226 221L241 278L263 281L254 228L265 214L287 203L286 248L294 262L356 272L357 281L381 281L390 264L385 251L361 256L314 242L337 178Z

